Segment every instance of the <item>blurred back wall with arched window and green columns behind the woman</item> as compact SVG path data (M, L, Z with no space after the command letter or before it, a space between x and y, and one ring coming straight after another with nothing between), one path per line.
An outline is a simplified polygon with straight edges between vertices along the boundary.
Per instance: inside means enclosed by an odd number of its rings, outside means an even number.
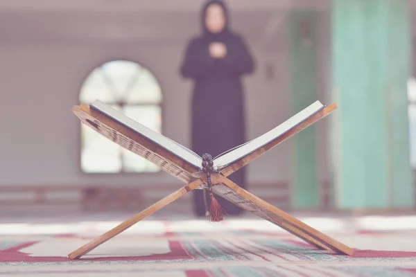
M179 69L202 0L0 0L0 216L139 212L182 184L82 127L101 99L190 146ZM320 100L338 109L248 166L285 211L415 207L416 1L228 0L256 62L247 137ZM158 213L192 214L191 195Z

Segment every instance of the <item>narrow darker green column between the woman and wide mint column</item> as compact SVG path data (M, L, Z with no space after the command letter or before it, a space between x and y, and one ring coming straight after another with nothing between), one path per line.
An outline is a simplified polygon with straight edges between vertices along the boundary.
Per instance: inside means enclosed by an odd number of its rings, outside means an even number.
M291 114L318 100L317 14L295 10L288 17L291 69ZM292 206L318 208L320 190L315 125L293 138Z

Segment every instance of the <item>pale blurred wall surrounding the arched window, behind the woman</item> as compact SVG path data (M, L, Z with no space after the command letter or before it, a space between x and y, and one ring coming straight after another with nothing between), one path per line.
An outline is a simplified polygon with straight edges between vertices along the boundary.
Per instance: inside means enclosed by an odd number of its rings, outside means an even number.
M191 83L177 74L184 45L99 46L21 44L0 46L0 185L164 184L168 175L88 176L79 166L79 122L71 113L80 86L102 62L128 59L148 66L164 92L164 134L189 145ZM244 80L248 139L288 118L285 53L266 56L252 46L257 73ZM275 80L265 80L264 62L277 66ZM250 181L288 179L288 143L249 166Z

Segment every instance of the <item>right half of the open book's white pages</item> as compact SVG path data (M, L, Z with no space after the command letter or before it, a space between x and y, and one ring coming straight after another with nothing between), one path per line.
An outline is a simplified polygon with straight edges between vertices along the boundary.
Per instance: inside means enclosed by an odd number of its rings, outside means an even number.
M251 152L261 148L263 145L266 145L270 141L285 134L286 132L288 132L288 130L292 129L293 127L296 127L304 120L313 116L313 114L317 113L323 108L324 105L322 105L321 102L314 102L312 105L309 105L309 107L306 107L299 113L295 114L295 116L292 116L284 123L281 123L281 125L275 127L266 134L263 134L248 143L244 143L243 145L234 148L234 150L232 151L227 151L224 152L224 154L220 154L218 157L216 157L216 159L214 159L214 167L223 168L225 166L228 166L230 163L233 163L234 161L242 159Z

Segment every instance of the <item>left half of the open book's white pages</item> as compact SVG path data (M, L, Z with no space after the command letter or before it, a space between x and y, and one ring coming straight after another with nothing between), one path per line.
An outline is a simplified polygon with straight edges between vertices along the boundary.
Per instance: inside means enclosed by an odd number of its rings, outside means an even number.
M166 136L163 136L162 134L153 131L153 129L149 129L148 127L138 123L137 121L132 120L132 118L125 116L121 112L117 111L116 109L113 109L112 107L106 105L100 100L96 100L92 105L90 105L90 108L101 112L105 116L108 116L116 120L117 122L125 125L126 127L132 129L133 131L141 134L142 136L145 136L150 141L153 141L154 143L164 148L168 152L171 152L180 159L184 159L188 163L191 163L191 165L195 166L196 168L201 168L202 158L198 154L189 150L183 145L180 145L179 143L176 143L175 141L168 139Z

